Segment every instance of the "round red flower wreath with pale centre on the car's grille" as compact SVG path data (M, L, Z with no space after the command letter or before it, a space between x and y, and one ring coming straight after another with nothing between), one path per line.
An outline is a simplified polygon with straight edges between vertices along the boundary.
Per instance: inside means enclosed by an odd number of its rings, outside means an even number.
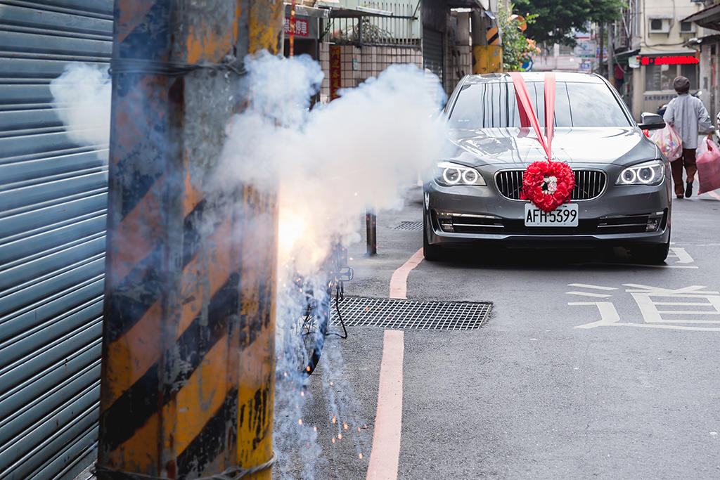
M575 172L562 162L534 162L523 173L520 198L532 201L543 212L552 212L570 201Z

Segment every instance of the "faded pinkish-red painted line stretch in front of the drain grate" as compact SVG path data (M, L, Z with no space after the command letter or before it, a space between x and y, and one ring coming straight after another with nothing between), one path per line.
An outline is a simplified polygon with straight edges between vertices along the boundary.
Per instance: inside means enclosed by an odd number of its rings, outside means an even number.
M414 255L413 255L414 256ZM367 480L397 479L402 427L402 356L405 350L403 332L385 330L377 391L377 412L372 434L372 450Z

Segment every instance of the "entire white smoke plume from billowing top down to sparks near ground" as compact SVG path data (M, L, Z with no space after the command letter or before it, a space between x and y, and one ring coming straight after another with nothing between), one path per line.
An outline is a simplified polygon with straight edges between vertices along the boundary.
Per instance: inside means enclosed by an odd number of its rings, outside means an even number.
M360 240L366 209L400 207L405 189L435 164L446 137L438 117L444 93L436 76L415 65L392 65L378 78L341 91L330 104L308 110L322 81L318 63L309 57L248 57L246 69L242 90L248 108L226 129L219 181L279 193L276 474L312 479L329 454L319 448L316 427L335 435L333 443L340 438L354 443L361 463L369 456L370 439L368 422L356 413L354 386L342 374L337 338L325 342L320 386L307 388L294 363L303 346L293 327L312 302L307 289L300 293L297 286L315 286L315 302L323 304L324 296L327 305L328 279L320 264L332 245ZM323 399L327 424L307 422L304 407L313 391Z

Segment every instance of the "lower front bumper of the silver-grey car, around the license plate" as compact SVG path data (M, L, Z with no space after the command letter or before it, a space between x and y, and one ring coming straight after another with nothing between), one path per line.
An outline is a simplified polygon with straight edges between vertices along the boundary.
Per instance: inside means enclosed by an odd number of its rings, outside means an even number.
M614 176L613 176L614 175ZM479 240L505 246L556 248L564 246L660 244L670 240L670 175L659 186L608 186L578 206L577 227L526 227L527 201L507 199L492 178L487 186L424 188L426 235L431 245L462 245ZM608 171L608 180L617 178ZM657 228L653 228L657 224Z

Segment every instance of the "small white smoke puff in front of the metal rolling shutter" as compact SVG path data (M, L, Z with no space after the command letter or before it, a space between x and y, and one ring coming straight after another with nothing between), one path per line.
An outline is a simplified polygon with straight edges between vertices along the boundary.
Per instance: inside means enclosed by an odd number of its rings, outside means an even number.
M109 143L111 87L107 68L86 64L70 64L50 82L53 107L73 142Z

